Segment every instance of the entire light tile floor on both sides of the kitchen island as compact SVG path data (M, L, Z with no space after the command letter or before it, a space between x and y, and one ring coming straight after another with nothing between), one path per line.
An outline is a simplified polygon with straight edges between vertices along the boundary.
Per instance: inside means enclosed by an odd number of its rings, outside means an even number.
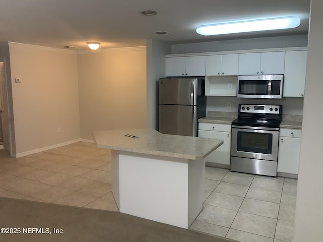
M297 181L206 167L203 210L190 229L248 242L292 241ZM78 142L9 158L0 151L0 196L118 211L110 151Z

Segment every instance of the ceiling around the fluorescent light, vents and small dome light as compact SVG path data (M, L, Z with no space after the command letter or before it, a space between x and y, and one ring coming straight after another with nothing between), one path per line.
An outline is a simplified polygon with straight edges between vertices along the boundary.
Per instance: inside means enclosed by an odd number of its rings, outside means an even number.
M155 16L139 12L154 10ZM174 43L307 34L310 0L1 0L0 42L75 50L144 46L146 39ZM297 15L295 29L201 36L200 25ZM171 35L157 35L166 31Z

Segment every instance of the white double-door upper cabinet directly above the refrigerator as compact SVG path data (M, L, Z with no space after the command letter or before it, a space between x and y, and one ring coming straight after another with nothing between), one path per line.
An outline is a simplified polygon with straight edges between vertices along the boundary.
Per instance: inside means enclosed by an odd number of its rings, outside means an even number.
M205 76L206 56L167 57L166 76Z

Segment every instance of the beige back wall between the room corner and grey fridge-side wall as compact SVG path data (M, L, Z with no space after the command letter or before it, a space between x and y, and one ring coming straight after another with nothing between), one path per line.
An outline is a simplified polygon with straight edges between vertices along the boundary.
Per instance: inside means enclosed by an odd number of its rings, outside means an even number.
M146 127L146 48L78 52L80 137Z

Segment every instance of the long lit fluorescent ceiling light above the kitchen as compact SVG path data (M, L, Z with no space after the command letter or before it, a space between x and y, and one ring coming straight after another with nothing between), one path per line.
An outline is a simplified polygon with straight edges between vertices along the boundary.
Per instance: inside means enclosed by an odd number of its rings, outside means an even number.
M300 25L299 17L290 16L271 19L257 19L251 21L212 24L198 27L196 32L201 35L218 35L231 33L244 33L274 29L291 29Z

